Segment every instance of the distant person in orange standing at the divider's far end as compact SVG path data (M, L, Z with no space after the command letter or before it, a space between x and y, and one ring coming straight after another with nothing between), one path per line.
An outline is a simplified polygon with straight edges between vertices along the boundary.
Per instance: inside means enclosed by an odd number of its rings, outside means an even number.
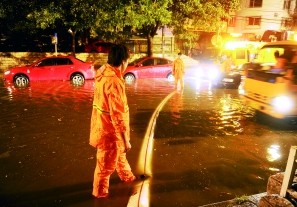
M184 75L185 75L185 64L181 59L182 53L178 53L178 57L173 62L172 74L174 76L175 89L178 89L178 84L180 84L180 89L184 89Z

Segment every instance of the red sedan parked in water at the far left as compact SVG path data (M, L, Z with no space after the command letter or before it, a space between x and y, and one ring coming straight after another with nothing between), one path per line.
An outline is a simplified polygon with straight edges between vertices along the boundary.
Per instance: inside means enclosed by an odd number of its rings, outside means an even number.
M4 72L4 82L22 87L30 81L70 80L75 85L94 78L94 65L73 56L50 56L31 65L14 67Z

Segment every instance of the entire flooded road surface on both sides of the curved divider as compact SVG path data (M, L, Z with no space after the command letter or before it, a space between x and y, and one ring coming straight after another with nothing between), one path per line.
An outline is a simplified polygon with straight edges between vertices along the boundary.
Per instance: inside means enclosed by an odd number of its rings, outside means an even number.
M132 169L149 119L171 91L173 84L163 80L127 85ZM25 89L0 83L1 206L93 206L92 95L92 81ZM184 93L175 94L157 120L151 206L199 206L264 192L268 177L284 171L295 134L256 119L237 90L197 88L186 80ZM115 173L111 186L118 182Z

